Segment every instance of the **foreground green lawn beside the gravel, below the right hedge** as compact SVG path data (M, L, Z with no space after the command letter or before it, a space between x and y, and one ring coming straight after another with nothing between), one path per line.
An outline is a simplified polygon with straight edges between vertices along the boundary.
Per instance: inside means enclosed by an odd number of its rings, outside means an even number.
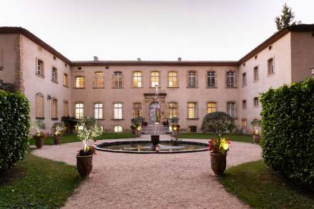
M253 208L314 208L313 191L285 180L262 160L229 168L225 174L219 180L226 190Z

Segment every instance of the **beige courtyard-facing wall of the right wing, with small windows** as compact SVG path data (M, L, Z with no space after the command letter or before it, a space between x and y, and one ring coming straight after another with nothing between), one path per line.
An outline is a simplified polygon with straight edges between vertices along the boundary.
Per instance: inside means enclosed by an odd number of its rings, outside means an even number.
M283 36L272 44L272 48L264 49L257 54L257 58L252 57L240 65L240 121L247 119L247 131L251 131L250 122L255 118L260 118L262 110L261 104L253 107L253 98L259 97L260 93L268 91L269 88L278 88L284 83L291 83L291 36L290 33ZM275 73L268 75L268 59L274 59ZM253 81L253 68L258 66L259 79ZM242 73L246 73L247 85L242 86ZM242 108L242 101L246 100L246 109Z

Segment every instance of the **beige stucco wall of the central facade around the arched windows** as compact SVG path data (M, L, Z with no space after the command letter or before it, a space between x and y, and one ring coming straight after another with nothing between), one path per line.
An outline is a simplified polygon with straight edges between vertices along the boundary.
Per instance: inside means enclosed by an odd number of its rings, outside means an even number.
M226 103L235 101L238 105L238 88L225 88L225 78L227 70L235 70L238 73L237 67L230 66L86 66L78 70L77 67L72 67L72 81L75 76L84 76L86 88L72 90L72 107L74 114L74 104L77 102L84 103L84 113L87 116L93 116L93 103L103 103L103 120L99 122L106 131L113 131L114 126L123 126L123 129L129 129L131 126L132 104L136 102L142 103L142 111L148 111L148 106L143 106L143 93L154 93L155 89L150 86L151 71L160 72L160 92L166 93L165 102L178 103L178 118L183 129L188 129L188 126L201 127L203 116L206 115L206 103L215 101L218 104L219 111L226 111ZM187 88L187 72L195 70L198 73L198 88ZM218 88L206 88L206 71L214 70L217 73ZM103 71L104 88L93 88L93 73L95 71ZM121 71L123 73L123 88L112 88L113 72ZM141 71L143 73L143 88L133 88L132 72ZM178 88L168 88L168 71L178 72ZM187 119L188 116L188 101L196 101L198 103L198 119ZM113 120L113 103L123 103L123 120ZM161 118L168 117L167 106L161 106ZM147 115L146 115L147 116ZM148 118L146 117L146 121Z

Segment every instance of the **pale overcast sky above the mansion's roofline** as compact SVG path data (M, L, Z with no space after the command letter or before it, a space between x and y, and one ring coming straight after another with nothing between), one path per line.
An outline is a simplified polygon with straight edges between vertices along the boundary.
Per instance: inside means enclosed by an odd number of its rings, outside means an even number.
M275 31L287 2L314 24L314 0L0 0L21 26L70 60L238 60Z

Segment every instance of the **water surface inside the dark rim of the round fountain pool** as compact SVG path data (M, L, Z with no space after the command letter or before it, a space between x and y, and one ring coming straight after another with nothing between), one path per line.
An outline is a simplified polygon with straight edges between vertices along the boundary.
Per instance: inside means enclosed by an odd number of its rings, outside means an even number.
M159 148L159 151L158 151ZM194 141L160 141L157 147L151 141L104 142L96 146L98 151L116 153L191 153L208 151L208 144Z

